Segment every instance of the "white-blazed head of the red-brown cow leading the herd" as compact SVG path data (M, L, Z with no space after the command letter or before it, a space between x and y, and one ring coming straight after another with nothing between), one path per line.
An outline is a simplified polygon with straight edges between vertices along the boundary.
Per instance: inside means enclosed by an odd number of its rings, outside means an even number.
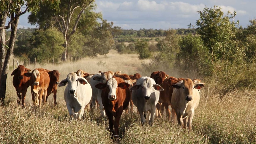
M129 88L130 84L125 83L123 80L120 80L119 77L112 77L106 83L98 83L95 87L99 89L107 88L108 99L115 100L117 98L118 88Z

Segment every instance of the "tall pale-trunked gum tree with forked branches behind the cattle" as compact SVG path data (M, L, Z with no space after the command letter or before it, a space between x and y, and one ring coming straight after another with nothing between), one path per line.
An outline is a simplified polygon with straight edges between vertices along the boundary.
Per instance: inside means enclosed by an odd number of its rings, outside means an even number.
M75 34L80 18L87 12L92 12L92 10L96 8L93 2L94 0L61 0L59 9L53 11L49 11L47 5L44 5L41 7L39 13L32 13L29 22L32 24L42 24L40 25L42 27L56 26L59 31L61 31L65 39L65 51L62 60L67 61L70 37ZM45 16L48 16L47 18L49 19L46 23L44 22Z

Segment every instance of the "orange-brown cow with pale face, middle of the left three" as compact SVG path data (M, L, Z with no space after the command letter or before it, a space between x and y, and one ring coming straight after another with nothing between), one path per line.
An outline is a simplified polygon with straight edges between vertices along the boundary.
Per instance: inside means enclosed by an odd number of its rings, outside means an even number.
M38 68L34 69L31 73L25 73L24 75L30 77L31 94L34 105L41 108L41 101L43 100L43 103L45 103L47 88L50 83L48 72L43 68Z

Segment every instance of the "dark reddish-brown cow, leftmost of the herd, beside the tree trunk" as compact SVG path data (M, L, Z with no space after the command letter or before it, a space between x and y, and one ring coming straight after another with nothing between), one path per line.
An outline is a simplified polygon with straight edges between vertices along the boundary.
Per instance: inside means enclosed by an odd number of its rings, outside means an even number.
M31 71L27 69L23 65L19 65L17 69L14 69L11 75L13 75L12 84L16 89L16 94L18 96L17 104L20 105L20 101L22 100L22 106L25 105L25 97L30 86L30 77L24 76L24 73ZM20 95L21 93L21 95Z

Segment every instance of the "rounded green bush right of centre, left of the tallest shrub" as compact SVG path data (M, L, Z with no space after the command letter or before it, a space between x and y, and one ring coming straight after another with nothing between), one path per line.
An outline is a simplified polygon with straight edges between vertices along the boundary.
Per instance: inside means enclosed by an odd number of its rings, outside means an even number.
M179 45L180 52L176 55L176 69L180 74L186 77L211 75L213 65L209 59L208 49L203 45L200 37L188 34L181 37Z

